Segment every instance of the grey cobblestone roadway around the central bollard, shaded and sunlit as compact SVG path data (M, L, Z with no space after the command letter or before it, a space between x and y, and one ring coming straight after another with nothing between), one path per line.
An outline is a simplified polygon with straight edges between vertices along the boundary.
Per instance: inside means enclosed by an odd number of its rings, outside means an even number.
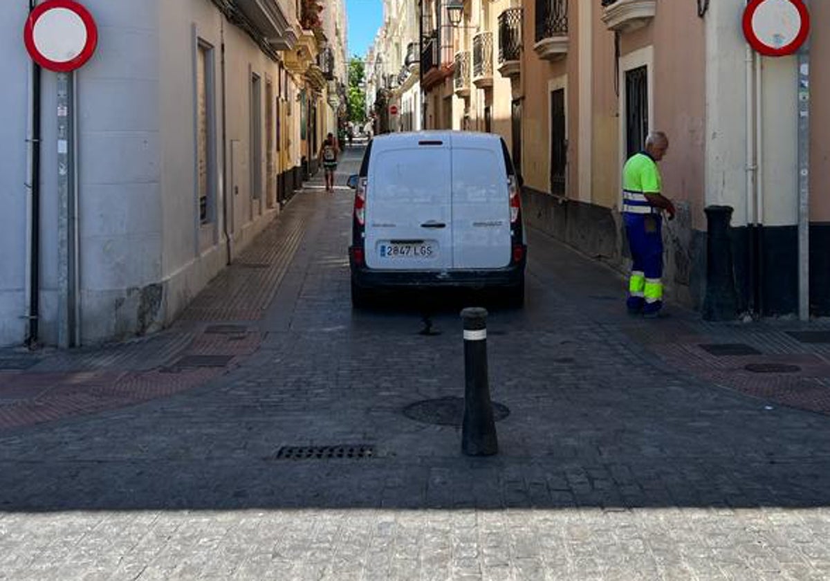
M0 579L830 579L830 418L782 395L798 376L822 401L826 345L790 334L820 324L629 319L617 276L532 233L528 305L490 305L500 454L463 457L458 427L403 409L461 394L458 310L486 297L439 295L433 335L418 297L353 312L350 207L343 188L291 203L305 235L265 310L222 315L256 336L222 373L0 431Z

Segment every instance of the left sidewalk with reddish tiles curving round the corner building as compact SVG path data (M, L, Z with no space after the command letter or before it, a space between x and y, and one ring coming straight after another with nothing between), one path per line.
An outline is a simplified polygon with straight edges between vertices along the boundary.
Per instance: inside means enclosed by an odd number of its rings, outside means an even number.
M104 347L0 352L0 431L167 397L236 369L261 344L262 333L249 325L265 315L308 218L308 211L291 208L277 217L172 329ZM211 325L229 321L241 324ZM188 356L211 355L227 361L176 365Z

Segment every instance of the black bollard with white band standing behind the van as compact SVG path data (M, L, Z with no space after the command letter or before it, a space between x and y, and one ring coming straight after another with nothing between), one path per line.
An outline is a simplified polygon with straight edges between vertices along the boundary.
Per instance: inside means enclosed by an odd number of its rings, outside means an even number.
M492 456L499 451L496 420L487 381L487 311L461 311L464 320L464 422L461 452L466 456Z

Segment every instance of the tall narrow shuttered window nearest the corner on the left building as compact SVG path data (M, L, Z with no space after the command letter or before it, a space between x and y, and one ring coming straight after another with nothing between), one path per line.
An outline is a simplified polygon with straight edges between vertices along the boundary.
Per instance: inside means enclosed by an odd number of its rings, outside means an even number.
M198 40L196 51L196 176L199 222L212 221L215 158L213 144L213 47Z

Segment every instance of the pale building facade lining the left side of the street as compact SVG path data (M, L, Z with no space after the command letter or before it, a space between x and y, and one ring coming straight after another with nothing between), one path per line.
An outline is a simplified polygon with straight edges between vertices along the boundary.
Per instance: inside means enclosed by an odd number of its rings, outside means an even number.
M58 77L41 71L41 99L32 99L21 41L29 7L0 9L0 345L94 344L168 325L300 187L301 122L322 106L300 100L313 94L320 32L301 26L296 0L83 3L100 37L74 74L69 240L58 195ZM32 175L27 116L36 114ZM30 183L39 186L37 216Z

